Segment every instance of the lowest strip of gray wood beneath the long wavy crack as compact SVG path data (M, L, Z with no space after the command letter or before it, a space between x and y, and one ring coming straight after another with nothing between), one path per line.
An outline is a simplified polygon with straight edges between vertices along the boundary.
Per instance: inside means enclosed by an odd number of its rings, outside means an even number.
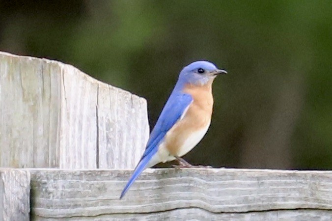
M248 213L210 213L199 208L146 214L101 214L95 217L42 218L33 221L331 221L332 211L276 210Z

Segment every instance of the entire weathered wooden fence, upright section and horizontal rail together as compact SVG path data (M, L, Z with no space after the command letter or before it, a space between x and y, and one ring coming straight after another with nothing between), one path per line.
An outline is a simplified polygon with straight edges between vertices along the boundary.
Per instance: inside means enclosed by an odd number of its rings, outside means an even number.
M0 53L0 221L332 221L330 171L147 169L119 200L146 110L71 65Z

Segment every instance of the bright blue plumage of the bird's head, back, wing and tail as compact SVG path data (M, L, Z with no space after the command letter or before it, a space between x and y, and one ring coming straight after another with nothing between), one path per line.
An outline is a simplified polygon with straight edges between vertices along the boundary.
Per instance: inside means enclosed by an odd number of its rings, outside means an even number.
M195 61L184 67L180 72L179 79L169 96L163 111L161 112L155 127L153 128L150 138L147 142L146 149L136 166L131 178L123 189L120 199L125 195L130 186L138 178L139 174L149 166L154 166L161 161L155 160L160 144L163 142L166 133L180 120L182 114L193 102L190 94L183 92L186 85L204 85L216 77L217 74L227 73L218 69L213 63L208 61ZM190 146L193 148L194 146ZM169 156L167 154L167 156ZM154 159L154 160L152 160ZM174 158L173 158L174 159ZM158 162L157 162L158 161ZM164 161L164 160L163 160Z

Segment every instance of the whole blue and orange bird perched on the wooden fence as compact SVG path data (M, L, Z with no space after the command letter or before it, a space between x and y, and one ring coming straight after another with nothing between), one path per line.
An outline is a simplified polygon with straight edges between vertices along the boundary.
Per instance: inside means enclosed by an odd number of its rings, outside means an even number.
M179 162L178 168L196 167L181 157L198 144L210 126L212 83L220 74L227 71L206 60L194 61L182 69L120 199L145 168L173 160Z

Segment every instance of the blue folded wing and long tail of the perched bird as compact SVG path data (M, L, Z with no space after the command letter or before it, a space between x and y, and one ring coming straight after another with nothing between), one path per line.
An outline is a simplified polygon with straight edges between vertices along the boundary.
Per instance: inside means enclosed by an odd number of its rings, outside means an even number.
M145 169L152 156L157 153L159 143L163 140L167 131L180 119L181 115L192 101L193 98L190 94L171 94L150 134L143 156L136 166L132 177L123 189L120 199L128 191L139 174Z

